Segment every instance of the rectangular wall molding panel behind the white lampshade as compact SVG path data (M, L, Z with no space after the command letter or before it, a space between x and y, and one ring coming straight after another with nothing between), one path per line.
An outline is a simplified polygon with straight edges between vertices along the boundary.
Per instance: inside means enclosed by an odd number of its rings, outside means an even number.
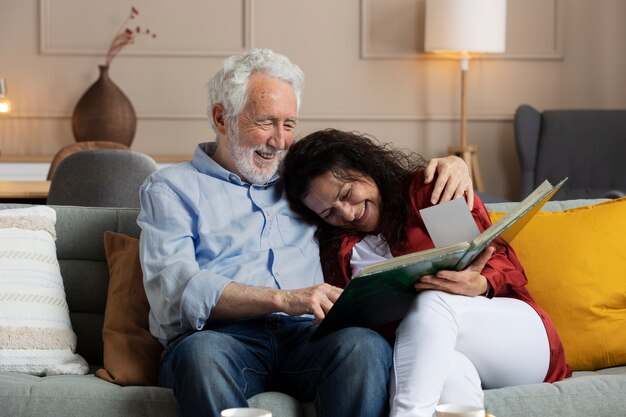
M507 52L481 59L564 59L564 8L565 0L508 0ZM361 58L449 59L424 52L425 9L425 0L360 0Z

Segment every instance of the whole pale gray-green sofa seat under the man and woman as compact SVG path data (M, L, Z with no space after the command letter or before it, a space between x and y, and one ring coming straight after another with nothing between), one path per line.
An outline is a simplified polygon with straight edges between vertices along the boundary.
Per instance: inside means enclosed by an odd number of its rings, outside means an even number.
M485 407L498 417L621 416L626 410L626 366L574 372L555 384L530 384L485 391ZM273 417L313 417L313 403L301 404L279 392L248 400ZM0 372L1 415L175 417L171 390L120 387L94 375L37 377Z

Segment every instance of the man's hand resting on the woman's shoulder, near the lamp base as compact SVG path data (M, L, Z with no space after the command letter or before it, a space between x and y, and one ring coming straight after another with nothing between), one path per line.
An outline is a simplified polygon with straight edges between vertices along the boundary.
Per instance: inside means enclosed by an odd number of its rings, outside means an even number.
M474 187L465 161L454 155L431 159L424 171L426 184L433 180L435 172L438 175L431 203L443 203L465 194L470 210L474 207Z

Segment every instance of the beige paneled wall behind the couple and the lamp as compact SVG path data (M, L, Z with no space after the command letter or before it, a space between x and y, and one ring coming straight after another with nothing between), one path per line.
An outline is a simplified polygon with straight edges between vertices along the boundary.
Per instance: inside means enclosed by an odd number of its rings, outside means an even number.
M248 47L288 55L307 75L299 133L372 133L445 154L459 136L459 68L420 53L423 0L0 0L0 73L14 111L4 155L53 154L131 4L140 38L111 66L138 115L133 149L190 155L210 140L206 83ZM521 103L626 108L625 0L509 0L507 53L473 60L469 141L487 192L517 198L512 117Z

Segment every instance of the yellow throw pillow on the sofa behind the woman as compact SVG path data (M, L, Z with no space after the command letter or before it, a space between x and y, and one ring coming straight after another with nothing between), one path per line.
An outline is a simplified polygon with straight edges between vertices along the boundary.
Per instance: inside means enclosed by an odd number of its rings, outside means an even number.
M490 213L493 222L504 213ZM572 370L626 364L626 198L539 212L511 246Z

